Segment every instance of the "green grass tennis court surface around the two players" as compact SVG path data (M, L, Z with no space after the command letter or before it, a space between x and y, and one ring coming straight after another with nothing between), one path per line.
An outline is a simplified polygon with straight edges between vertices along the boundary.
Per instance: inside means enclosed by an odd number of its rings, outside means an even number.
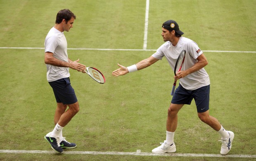
M256 51L255 1L150 1L148 49L163 41L161 24L175 19L185 37L201 50ZM124 1L1 1L0 47L43 47L60 9L77 19L69 33L69 48L142 49L145 0ZM167 5L168 4L168 5ZM58 6L58 7L56 7ZM182 6L182 9L181 7ZM166 59L114 78L111 72L149 57L149 51L68 50L73 60L94 66L104 85L70 70L81 110L65 127L75 151L151 152L165 139L165 123L173 71ZM255 53L204 53L211 80L210 114L235 133L229 154L255 155ZM0 49L1 149L51 150L43 136L53 128L55 98L46 80L44 50ZM219 135L199 118L194 102L179 112L175 133L177 153L219 154ZM163 156L103 156L0 154L3 160L165 160ZM172 160L234 160L186 158ZM249 159L239 159L249 160Z

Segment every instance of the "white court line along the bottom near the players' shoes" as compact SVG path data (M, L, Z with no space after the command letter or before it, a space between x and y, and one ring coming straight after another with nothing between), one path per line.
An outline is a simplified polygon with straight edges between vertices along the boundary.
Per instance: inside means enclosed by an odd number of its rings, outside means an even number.
M13 153L13 154L55 154L54 151L46 150L0 150L0 153ZM190 154L190 153L165 153L165 154L153 154L140 152L95 152L95 151L65 151L63 154L91 154L91 155L136 155L136 156L184 156L184 157L223 157L223 158L256 158L256 155L221 155L221 154Z

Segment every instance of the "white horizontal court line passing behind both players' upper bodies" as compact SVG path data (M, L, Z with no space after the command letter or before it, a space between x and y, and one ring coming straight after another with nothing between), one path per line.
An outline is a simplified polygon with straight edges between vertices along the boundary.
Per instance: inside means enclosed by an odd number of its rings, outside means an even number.
M0 49L45 49L44 47L0 47ZM68 48L68 50L108 50L108 51L156 51L156 49L93 49L93 48ZM256 53L256 51L221 51L221 50L203 50L203 52L239 52Z

